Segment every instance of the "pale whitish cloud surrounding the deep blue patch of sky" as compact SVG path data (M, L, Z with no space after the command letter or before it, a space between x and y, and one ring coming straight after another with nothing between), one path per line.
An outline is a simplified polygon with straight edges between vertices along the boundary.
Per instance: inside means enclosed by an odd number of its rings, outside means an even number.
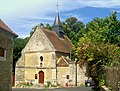
M120 0L0 0L0 18L5 20L8 26L15 30L16 33L20 33L20 31L25 32L26 29L31 31L32 26L40 23L42 20L44 22L46 20L49 22L54 21L57 2L60 5L60 12L86 6L120 8ZM71 16L84 20L78 14L72 14Z

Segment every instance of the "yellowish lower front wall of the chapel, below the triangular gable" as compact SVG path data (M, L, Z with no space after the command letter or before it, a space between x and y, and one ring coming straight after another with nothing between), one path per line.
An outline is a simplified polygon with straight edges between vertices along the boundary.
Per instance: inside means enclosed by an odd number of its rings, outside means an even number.
M43 61L40 57L43 57ZM39 71L44 72L44 83L56 82L56 60L54 52L30 52L22 53L22 57L16 65L16 85L21 82L38 84ZM42 65L40 65L42 63ZM37 74L37 79L35 79Z

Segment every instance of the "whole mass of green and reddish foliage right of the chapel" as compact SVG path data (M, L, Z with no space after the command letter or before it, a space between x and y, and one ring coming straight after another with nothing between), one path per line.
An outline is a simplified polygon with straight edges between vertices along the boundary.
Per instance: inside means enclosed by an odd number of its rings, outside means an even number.
M103 67L120 66L120 21L116 12L105 19L95 18L86 25L87 31L74 48L75 54L87 64L87 75L103 78Z

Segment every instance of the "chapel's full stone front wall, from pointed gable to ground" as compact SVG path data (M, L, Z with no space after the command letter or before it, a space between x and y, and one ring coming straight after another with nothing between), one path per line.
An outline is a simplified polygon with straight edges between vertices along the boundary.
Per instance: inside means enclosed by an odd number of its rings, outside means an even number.
M40 56L43 57L42 62ZM40 67L41 63L42 67ZM37 29L22 50L21 58L17 61L15 71L16 85L19 82L29 80L32 80L33 83L35 81L38 83L38 79L35 80L35 74L38 74L40 70L45 72L45 83L47 80L56 81L56 55L53 45L43 31Z

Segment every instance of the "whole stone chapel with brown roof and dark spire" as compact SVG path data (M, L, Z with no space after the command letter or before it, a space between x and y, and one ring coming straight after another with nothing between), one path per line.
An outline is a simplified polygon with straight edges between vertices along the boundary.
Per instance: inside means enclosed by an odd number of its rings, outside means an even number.
M22 50L22 56L16 64L16 85L21 82L33 84L47 84L64 86L75 84L75 63L70 60L73 44L67 36L60 22L59 13L55 17L52 31L37 28ZM85 68L78 64L78 83L84 83Z

